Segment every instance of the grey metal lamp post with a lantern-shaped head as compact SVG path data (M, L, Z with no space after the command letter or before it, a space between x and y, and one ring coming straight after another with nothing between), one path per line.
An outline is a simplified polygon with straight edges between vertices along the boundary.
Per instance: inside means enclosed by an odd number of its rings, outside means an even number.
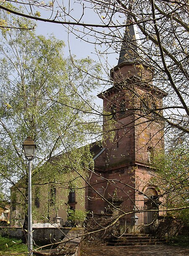
M35 155L36 145L32 137L27 137L22 145L26 159L28 160L28 256L33 255L33 235L32 235L32 172L31 161Z

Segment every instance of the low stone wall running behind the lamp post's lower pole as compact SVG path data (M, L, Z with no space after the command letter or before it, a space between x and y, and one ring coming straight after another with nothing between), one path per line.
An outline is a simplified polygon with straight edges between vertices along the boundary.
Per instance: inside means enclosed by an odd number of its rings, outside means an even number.
M57 228L57 227L38 227L33 228L33 239L35 242L50 243L53 241L63 240L68 232L71 230L70 227ZM22 238L21 227L0 227L0 235L10 236L11 238Z

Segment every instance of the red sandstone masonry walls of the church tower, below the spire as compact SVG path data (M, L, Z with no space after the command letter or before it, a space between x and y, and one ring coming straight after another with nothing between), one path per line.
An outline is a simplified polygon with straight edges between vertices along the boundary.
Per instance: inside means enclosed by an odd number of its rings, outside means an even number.
M140 66L123 66L116 69L113 79L116 83L120 83L139 73L145 81L151 82L152 72ZM100 96L103 98L106 113L110 111L112 104L117 106L117 113L113 127L109 126L113 116L104 117L104 132L114 129L114 134L112 136L110 132L107 133L104 145L106 150L95 161L95 172L89 175L89 183L92 187L86 189L86 196L89 198L86 208L95 213L101 213L108 208L108 203L100 195L111 198L115 195L115 190L116 196L124 199L123 206L144 207L143 193L150 186L153 175L146 168L150 165L147 148L150 146L158 151L164 147L163 123L152 121L152 115L146 117L142 113L141 98L145 93L154 92L149 88L140 87L136 82L128 84L128 87L126 84L123 87L116 85ZM162 98L155 93L153 96L157 107L161 106ZM123 98L126 100L126 112L124 116L120 116L119 103Z

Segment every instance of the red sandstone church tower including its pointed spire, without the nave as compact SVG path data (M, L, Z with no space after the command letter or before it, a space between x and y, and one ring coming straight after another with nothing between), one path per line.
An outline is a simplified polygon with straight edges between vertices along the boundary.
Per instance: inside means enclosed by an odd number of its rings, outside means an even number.
M153 84L153 69L142 61L140 44L136 25L129 26L118 65L110 70L112 87L98 95L103 100L103 130L108 136L89 181L97 190L97 194L91 192L94 212L108 208L99 195L109 200L116 193L123 206L131 207L144 207L151 197L158 197L150 185L151 161L164 148L160 116L165 93ZM113 132L107 132L109 128Z

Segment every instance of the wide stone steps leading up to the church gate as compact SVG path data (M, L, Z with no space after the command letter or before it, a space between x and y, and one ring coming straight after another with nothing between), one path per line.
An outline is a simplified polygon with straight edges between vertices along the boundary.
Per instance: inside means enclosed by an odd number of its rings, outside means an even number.
M109 241L111 246L136 246L136 245L160 245L165 244L166 239L150 234L120 234Z

